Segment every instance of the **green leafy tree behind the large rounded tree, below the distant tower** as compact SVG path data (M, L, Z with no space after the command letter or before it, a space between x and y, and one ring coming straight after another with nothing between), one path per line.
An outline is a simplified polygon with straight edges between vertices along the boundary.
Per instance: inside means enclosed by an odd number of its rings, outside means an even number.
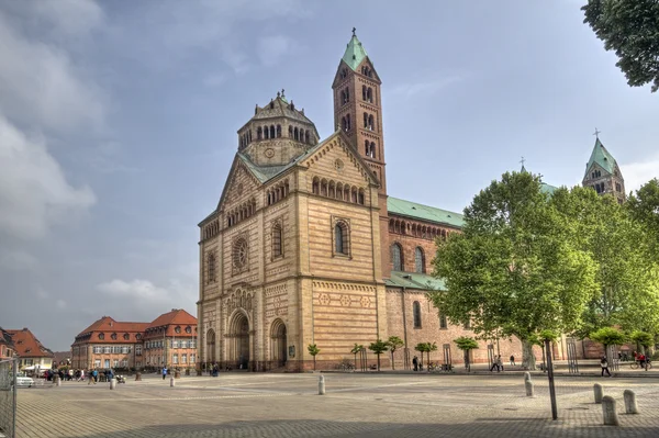
M595 262L599 290L577 334L585 337L614 325L625 330L659 325L657 269L649 258L647 233L629 209L582 187L560 189L550 202L573 223L570 240Z

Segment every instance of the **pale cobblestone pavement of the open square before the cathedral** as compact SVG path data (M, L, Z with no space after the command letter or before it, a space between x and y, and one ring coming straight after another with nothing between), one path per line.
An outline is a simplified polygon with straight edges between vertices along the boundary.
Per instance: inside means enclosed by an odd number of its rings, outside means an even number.
M551 420L544 375L526 397L521 375L221 373L20 389L18 437L658 437L659 379L557 378ZM593 383L617 401L619 427L602 426ZM624 414L623 391L639 415Z

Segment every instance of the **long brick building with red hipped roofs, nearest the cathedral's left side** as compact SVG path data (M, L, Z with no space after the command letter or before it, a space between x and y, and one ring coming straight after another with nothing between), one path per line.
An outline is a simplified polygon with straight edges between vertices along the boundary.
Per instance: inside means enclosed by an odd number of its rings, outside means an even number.
M197 318L174 308L152 323L103 316L76 336L71 367L80 369L194 367Z

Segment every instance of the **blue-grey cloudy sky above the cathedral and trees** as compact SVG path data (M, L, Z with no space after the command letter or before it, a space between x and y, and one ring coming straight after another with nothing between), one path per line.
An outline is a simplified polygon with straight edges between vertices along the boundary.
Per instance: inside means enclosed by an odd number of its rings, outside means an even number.
M194 313L236 130L286 88L327 136L353 26L391 195L461 211L522 156L572 186L595 127L638 188L659 93L627 87L580 3L0 0L0 325L63 350L103 315Z

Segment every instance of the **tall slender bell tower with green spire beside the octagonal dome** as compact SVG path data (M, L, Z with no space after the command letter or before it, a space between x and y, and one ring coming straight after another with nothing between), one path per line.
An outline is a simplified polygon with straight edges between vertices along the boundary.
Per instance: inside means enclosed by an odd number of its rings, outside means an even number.
M347 44L338 63L332 90L334 92L334 126L349 138L353 148L373 171L380 188L380 240L382 273L390 277L389 269L389 214L387 210L387 172L384 164L384 136L382 133L382 81L373 63L355 34Z

